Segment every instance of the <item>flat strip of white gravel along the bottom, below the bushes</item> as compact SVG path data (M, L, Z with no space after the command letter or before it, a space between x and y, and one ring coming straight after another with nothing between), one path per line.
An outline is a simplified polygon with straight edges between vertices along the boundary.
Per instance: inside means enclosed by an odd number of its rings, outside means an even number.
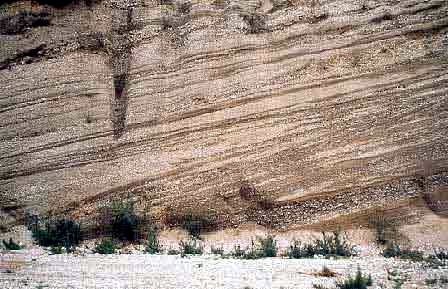
M392 288L391 273L405 281L402 288L448 288L447 284L425 287L428 278L447 276L448 268L425 268L423 264L355 257L341 260L281 257L260 260L222 259L214 255L48 255L34 248L0 257L2 288L312 288L332 285L358 266L372 275L374 287ZM327 266L335 278L318 277ZM41 286L41 287L39 287ZM438 287L437 287L438 286Z

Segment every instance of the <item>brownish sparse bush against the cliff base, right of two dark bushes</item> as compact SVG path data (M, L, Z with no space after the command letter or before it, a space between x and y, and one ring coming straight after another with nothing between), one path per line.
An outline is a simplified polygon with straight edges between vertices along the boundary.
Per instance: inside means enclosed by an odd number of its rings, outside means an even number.
M192 210L185 212L169 211L166 216L169 225L177 225L186 230L192 237L199 239L200 234L217 227L216 213L214 210Z

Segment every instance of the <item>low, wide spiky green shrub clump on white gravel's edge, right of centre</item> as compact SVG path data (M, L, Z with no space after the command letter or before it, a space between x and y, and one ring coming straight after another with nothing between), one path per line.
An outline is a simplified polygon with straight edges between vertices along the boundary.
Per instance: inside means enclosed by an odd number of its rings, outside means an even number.
M294 240L293 244L289 246L287 255L289 258L312 258L314 255L353 256L353 246L350 245L346 238L342 237L340 231L332 232L332 235L327 235L322 232L322 239L316 239L313 243L301 244Z

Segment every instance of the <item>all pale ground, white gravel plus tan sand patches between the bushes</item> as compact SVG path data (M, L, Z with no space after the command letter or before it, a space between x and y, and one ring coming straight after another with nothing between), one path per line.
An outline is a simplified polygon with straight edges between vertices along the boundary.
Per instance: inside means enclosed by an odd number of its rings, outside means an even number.
M411 243L426 252L432 246L447 247L444 219L427 215L422 223L405 226ZM440 230L429 230L430 227ZM235 230L224 230L203 236L205 254L202 256L149 255L141 245L131 245L123 254L99 255L91 253L94 240L85 241L75 254L50 255L48 251L32 244L29 231L15 227L0 239L13 237L27 247L20 251L0 251L0 288L312 288L313 284L333 286L337 280L356 272L359 266L371 274L375 289L393 288L394 279L402 279L403 289L448 288L448 284L426 285L427 279L448 276L448 267L430 267L380 256L380 250L372 242L368 230L347 231L358 257L348 259L288 259L284 257L259 260L222 258L210 254L210 246L223 247L229 252L235 244L242 248L256 236L266 235L260 226L247 225ZM289 231L278 233L279 253L293 239L311 240L319 233ZM426 234L423 237L422 234ZM165 250L177 248L178 240L186 238L180 230L163 231L160 242ZM127 254L124 254L127 252ZM337 275L334 278L318 277L317 272L327 266ZM40 286L40 287L39 287Z

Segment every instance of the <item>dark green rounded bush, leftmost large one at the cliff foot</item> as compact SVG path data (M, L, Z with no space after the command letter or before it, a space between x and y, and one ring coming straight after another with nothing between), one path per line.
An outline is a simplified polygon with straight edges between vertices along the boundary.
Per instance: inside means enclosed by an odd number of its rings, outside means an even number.
M70 219L47 222L44 228L36 226L32 233L39 245L45 247L64 246L67 251L81 241L81 227Z

